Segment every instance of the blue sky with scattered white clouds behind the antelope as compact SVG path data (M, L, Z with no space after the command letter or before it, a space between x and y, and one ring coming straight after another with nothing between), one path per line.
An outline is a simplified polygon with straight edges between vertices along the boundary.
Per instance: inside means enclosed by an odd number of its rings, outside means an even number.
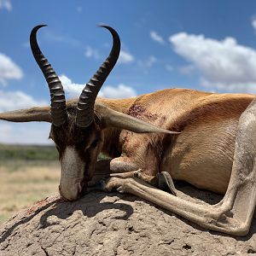
M33 26L67 97L108 56L113 26L119 62L101 96L164 88L256 93L255 1L0 0L0 111L49 104L49 90L28 44ZM0 122L0 143L47 143L48 124Z

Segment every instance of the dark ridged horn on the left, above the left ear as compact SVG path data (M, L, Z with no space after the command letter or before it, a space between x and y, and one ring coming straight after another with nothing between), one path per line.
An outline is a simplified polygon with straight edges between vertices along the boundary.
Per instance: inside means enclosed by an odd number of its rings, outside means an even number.
M44 73L44 78L49 86L52 124L55 126L61 126L67 121L66 99L61 80L56 75L54 69L44 57L38 46L37 32L38 29L43 26L46 25L38 25L32 29L30 34L30 46L32 54L37 61L38 66Z

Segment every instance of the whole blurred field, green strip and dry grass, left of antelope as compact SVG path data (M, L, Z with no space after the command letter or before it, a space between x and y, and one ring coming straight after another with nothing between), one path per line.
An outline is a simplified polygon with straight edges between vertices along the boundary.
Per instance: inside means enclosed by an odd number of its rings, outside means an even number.
M0 224L20 208L58 191L54 147L0 144Z

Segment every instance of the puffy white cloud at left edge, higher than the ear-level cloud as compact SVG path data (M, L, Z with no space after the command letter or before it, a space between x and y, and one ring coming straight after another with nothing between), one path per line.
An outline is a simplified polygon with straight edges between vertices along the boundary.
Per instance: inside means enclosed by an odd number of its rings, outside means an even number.
M0 53L0 84L7 84L8 79L22 79L23 73L12 59Z

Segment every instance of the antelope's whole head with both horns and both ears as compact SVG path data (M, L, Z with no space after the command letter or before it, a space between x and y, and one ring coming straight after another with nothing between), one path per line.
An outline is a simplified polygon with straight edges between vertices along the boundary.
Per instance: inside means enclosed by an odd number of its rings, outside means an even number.
M61 162L60 194L68 201L73 201L84 194L87 183L94 174L97 156L101 152L104 139L102 131L105 128L116 127L119 130L125 129L138 133L177 132L163 130L96 103L96 96L119 57L119 35L110 26L102 26L108 29L113 37L113 47L108 58L85 84L78 102L67 103L61 80L38 47L37 32L43 26L45 25L35 26L32 29L30 44L32 54L49 85L50 107L0 113L0 119L13 122L51 123L49 138L54 141Z

